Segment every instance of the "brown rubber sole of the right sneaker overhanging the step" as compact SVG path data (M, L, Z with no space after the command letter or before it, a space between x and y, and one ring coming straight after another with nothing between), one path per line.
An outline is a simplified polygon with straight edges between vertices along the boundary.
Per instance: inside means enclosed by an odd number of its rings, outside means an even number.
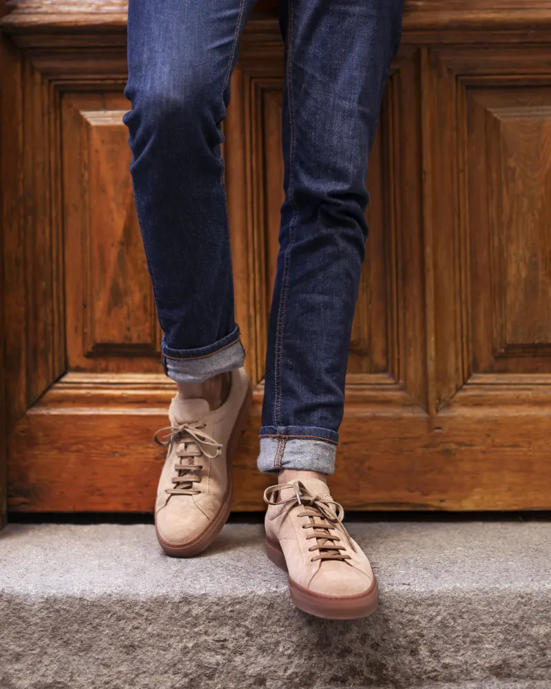
M278 542L266 537L266 554L273 564L284 572L287 570L287 562ZM324 619L360 619L373 615L379 604L379 587L377 579L373 578L371 587L356 596L325 596L321 593L312 593L304 586L300 586L289 577L289 591L295 606L309 615L323 617Z

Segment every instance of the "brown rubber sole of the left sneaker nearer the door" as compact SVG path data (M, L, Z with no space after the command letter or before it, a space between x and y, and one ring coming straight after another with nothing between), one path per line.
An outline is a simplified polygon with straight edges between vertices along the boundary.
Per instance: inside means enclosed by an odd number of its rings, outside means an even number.
M194 555L199 555L205 548L214 541L216 536L222 531L222 526L227 522L229 513L231 511L231 496L233 491L233 480L231 476L231 463L233 462L233 455L236 453L239 438L243 429L245 428L245 423L247 422L247 417L249 416L249 409L251 408L252 401L252 386L249 382L249 389L245 395L245 399L241 404L241 409L236 418L236 424L233 426L231 435L229 436L227 451L226 451L226 466L228 471L228 485L225 495L222 499L222 504L220 509L214 516L214 519L209 522L209 526L203 531L203 533L192 541L183 544L169 543L160 536L157 529L157 520L155 519L155 533L157 535L158 542L160 543L163 551L170 555L171 557L194 557Z

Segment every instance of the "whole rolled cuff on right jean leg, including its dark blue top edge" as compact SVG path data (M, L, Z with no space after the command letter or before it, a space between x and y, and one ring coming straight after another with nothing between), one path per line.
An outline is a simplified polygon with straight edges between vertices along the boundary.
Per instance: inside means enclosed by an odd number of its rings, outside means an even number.
M306 426L263 426L257 465L263 473L302 469L335 473L339 434Z

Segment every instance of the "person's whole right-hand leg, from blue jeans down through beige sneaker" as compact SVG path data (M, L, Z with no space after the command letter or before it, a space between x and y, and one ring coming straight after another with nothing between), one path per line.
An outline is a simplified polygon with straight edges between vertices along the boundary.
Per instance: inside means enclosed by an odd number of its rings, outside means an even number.
M399 43L402 0L283 4L285 200L258 466L280 473L287 487L273 486L268 496L287 509L269 507L267 546L302 586L291 586L300 606L355 617L373 610L375 580L337 520L323 479L335 464L367 237L367 158ZM320 603L323 594L356 598L331 613Z

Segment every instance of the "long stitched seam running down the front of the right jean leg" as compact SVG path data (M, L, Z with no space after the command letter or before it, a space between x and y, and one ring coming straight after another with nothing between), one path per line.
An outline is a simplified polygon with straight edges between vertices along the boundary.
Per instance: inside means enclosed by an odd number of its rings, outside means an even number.
M291 63L293 53L293 26L295 7L293 0L289 0L289 26L287 32L287 103L289 107L289 203L293 207L293 215L289 223L289 244L285 250L283 263L283 276L278 309L278 322L275 330L275 356L274 356L274 400L273 419L275 424L281 423L281 398L282 398L282 362L283 362L283 329L285 324L285 312L287 307L287 291L289 290L289 264L291 263L291 249L295 241L295 221L298 209L295 205L295 117L293 89L291 87Z

